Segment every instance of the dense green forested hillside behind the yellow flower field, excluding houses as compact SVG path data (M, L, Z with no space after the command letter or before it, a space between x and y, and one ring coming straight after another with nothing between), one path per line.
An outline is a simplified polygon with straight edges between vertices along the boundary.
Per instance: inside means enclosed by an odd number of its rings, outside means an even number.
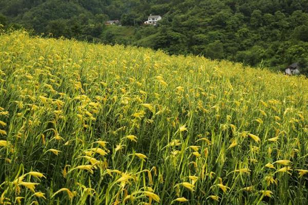
M158 26L143 25L150 13L163 17ZM306 0L0 0L0 24L277 70L299 61L307 72Z

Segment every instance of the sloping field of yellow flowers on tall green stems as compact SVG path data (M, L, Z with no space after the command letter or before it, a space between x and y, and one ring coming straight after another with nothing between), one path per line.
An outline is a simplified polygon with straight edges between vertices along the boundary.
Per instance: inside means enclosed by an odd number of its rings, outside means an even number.
M0 204L307 204L308 79L0 36Z

